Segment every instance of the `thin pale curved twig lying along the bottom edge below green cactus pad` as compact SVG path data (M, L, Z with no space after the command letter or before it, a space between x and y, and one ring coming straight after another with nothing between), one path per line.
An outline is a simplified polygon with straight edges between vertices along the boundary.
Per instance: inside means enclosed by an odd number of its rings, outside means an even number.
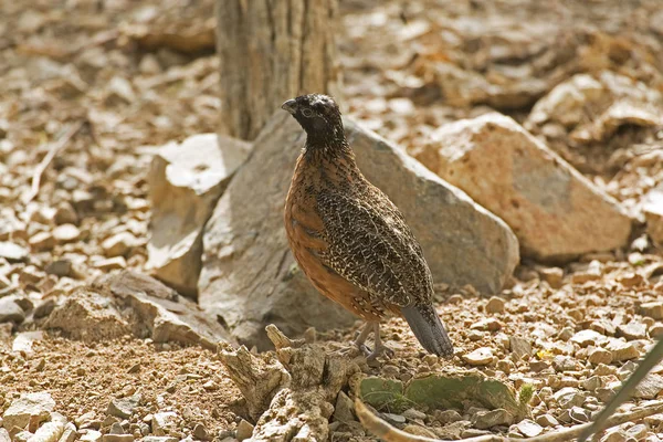
M443 441L441 439L431 439L421 435L414 435L401 431L382 419L371 413L368 408L360 401L355 401L355 411L357 417L364 424L364 428L377 435L385 442L452 442ZM614 414L606 422L606 427L615 427L622 423L632 422L646 418L648 415L657 414L663 412L663 401L656 401L650 403L643 408L631 410L628 413ZM560 431L538 435L536 438L527 439L527 442L569 442L573 438L577 438L580 433L591 427L591 423L583 423L581 425L571 427ZM476 438L463 439L462 441L454 442L523 442L523 439L513 439L496 434L480 435Z

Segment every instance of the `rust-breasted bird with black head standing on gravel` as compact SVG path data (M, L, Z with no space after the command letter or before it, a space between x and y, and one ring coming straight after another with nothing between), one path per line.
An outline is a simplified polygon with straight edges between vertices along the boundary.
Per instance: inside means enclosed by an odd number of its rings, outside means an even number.
M453 357L421 245L396 204L359 170L334 98L307 94L282 108L306 133L284 210L299 269L318 292L366 322L354 344L368 359L393 356L380 320L394 315L428 352ZM371 333L372 350L365 344Z

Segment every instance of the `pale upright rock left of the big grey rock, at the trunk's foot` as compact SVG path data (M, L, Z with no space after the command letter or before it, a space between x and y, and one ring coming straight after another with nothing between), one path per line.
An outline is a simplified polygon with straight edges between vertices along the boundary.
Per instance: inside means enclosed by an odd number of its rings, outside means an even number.
M202 227L249 147L234 138L201 134L167 144L152 160L147 269L181 294L197 294Z

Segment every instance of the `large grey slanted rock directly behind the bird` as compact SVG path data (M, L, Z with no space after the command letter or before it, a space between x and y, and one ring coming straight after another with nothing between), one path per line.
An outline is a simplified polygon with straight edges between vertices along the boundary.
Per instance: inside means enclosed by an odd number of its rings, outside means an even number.
M359 167L402 210L435 282L498 291L518 262L517 240L475 204L376 134L346 120ZM351 324L298 270L283 227L283 207L304 133L283 113L219 201L203 236L199 303L223 317L243 343L269 347L264 326L288 335Z

